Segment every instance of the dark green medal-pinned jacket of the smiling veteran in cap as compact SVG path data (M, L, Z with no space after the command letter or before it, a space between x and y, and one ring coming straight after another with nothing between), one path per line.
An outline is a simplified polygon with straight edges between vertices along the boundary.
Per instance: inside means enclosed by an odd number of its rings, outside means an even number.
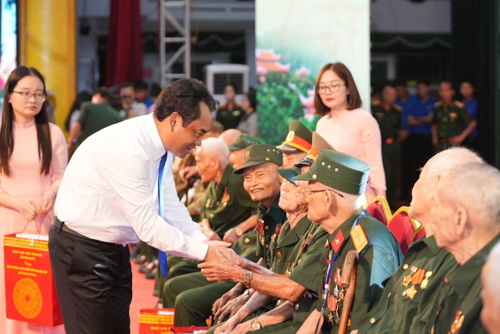
M279 236L283 222L286 220L286 213L279 207L279 193L267 208L258 203L257 206L257 256L262 257L267 268L272 266L276 254L277 237Z

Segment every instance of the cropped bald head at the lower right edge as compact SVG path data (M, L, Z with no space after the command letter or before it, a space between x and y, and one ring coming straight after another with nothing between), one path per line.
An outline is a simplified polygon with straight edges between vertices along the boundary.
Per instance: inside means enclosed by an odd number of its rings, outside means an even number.
M500 243L489 253L481 270L481 322L489 334L500 334Z

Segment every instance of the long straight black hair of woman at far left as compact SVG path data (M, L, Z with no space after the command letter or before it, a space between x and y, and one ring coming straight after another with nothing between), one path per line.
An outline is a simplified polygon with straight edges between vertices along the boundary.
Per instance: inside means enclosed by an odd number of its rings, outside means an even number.
M3 91L3 108L0 127L0 172L10 175L8 160L14 149L14 137L12 133L12 122L14 121L14 111L8 102L9 96L14 90L17 82L24 76L35 75L43 83L43 93L45 94L45 81L40 72L33 67L19 66L9 75ZM36 136L38 138L38 158L41 160L40 173L48 174L50 162L52 160L52 142L50 140L50 130L48 127L48 114L46 102L41 105L40 112L34 116L36 126Z

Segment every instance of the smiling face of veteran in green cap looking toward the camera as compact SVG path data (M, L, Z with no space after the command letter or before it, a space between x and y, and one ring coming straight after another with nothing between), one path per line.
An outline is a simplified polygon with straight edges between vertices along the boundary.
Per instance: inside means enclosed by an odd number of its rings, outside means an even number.
M281 185L277 167L276 163L269 161L244 169L243 187L253 201L274 200Z

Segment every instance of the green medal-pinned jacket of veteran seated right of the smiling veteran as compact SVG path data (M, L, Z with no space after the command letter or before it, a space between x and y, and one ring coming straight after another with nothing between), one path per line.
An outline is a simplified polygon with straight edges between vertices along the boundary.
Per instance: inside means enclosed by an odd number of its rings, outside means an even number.
M307 219L307 215L303 216L289 232L284 234L283 229L289 228L289 226L288 221L286 221L281 227L279 236L284 236L278 239L276 257L274 257L271 267L272 271L286 276L291 275L302 256L310 249L312 236L319 228L318 224ZM277 300L276 306L284 301L286 299Z

